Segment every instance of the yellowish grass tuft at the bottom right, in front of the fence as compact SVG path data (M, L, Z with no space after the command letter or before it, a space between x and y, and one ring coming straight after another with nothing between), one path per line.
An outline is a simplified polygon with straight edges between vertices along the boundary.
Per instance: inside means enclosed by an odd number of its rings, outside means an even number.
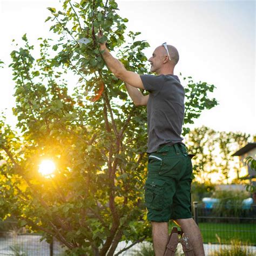
M247 243L241 242L239 240L232 240L231 245L222 245L220 238L218 237L219 248L218 250L211 253L212 256L253 256L254 253L251 252L247 247Z

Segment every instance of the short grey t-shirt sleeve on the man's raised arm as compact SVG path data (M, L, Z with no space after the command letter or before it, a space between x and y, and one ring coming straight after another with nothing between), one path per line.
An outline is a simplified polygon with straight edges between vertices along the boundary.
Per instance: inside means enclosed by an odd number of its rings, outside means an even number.
M143 86L146 91L158 92L164 84L162 76L152 76L152 75L140 75L142 79Z

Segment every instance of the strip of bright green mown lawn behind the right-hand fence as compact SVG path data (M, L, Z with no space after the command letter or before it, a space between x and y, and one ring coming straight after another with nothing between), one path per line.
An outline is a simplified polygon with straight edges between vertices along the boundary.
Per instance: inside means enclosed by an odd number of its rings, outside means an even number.
M256 245L256 224L199 223L199 228L206 243L217 243L217 234L222 244L237 239Z

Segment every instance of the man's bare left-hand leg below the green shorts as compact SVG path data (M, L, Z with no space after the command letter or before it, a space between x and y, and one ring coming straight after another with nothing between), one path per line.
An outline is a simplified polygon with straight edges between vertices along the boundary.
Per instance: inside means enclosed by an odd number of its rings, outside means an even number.
M166 245L168 244L169 240L168 223L156 221L151 221L151 223L154 253L156 256L164 256Z

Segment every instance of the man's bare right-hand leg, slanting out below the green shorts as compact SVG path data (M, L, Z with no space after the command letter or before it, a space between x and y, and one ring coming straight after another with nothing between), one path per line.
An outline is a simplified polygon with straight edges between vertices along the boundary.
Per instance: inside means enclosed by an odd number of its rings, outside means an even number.
M184 233L188 234L188 238L190 239L190 242L192 244L194 254L196 256L205 256L203 239L196 222L192 218L177 219L174 221L181 227L181 230Z

